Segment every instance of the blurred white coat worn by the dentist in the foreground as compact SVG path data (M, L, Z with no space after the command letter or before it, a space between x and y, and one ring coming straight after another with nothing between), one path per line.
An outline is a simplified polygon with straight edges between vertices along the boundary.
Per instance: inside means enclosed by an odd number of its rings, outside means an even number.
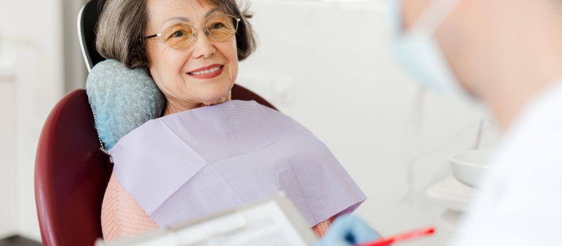
M562 245L562 82L506 133L454 246Z

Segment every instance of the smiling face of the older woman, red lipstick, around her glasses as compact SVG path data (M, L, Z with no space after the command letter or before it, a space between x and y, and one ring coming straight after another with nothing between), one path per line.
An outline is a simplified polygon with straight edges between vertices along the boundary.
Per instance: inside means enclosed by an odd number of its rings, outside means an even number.
M170 48L160 36L147 39L150 73L167 99L165 115L229 100L238 75L236 38L205 35L207 22L225 13L198 0L147 0L147 9L146 36L175 24L198 27L197 39L185 49Z

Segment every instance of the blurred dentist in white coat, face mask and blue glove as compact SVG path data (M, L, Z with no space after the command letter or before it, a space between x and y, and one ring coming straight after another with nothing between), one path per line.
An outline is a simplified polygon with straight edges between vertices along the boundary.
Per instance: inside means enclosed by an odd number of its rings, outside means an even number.
M451 245L562 245L562 0L389 1L402 64L429 89L486 104L504 130ZM348 216L319 245L377 238Z

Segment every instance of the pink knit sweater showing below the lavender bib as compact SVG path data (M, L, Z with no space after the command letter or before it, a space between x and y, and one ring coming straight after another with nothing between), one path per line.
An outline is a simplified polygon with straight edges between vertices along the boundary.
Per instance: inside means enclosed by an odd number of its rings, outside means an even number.
M319 238L326 234L334 217L312 228ZM125 191L115 174L111 175L103 197L101 220L103 239L107 241L158 229L156 222Z

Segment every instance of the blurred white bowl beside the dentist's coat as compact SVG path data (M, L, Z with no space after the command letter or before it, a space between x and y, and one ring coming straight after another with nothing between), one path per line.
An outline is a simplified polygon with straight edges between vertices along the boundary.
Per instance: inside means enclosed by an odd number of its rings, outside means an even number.
M461 183L478 188L484 172L490 168L488 160L495 150L468 150L451 155L453 175Z

